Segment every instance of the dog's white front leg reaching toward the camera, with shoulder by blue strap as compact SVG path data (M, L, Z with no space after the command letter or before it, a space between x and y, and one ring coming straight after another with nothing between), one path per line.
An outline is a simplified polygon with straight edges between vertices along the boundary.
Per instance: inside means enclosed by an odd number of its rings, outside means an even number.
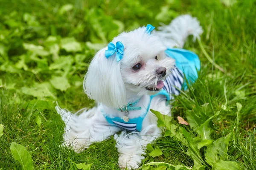
M151 101L151 109L159 111L162 114L170 115L170 106L166 105L166 99L163 96L156 96ZM115 134L116 148L119 152L119 167L124 169L136 169L145 158L144 150L148 143L161 136L161 130L157 127L157 117L148 112L143 120L141 132Z

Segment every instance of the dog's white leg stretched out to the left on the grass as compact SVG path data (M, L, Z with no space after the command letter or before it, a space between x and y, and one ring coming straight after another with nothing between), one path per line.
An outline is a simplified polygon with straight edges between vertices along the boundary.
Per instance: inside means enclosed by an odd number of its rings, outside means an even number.
M66 124L64 144L71 146L77 153L93 142L103 141L120 130L119 127L108 124L99 108L84 110L79 116L58 106L55 109Z

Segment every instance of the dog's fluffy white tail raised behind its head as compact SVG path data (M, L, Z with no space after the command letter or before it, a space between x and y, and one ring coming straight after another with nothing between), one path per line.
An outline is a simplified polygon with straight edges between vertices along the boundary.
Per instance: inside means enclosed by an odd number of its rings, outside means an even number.
M158 30L159 31L155 31L155 34L157 34L164 45L169 48L183 48L189 35L192 35L195 41L197 38L200 39L200 35L203 33L203 29L197 18L188 14L180 15L172 20L168 26L158 27Z

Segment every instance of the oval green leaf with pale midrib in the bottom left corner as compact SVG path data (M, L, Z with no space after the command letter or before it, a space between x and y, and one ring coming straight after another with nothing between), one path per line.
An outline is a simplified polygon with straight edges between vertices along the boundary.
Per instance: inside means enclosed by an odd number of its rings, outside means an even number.
M25 147L16 142L12 142L10 149L12 156L20 163L23 170L34 169L33 160Z

